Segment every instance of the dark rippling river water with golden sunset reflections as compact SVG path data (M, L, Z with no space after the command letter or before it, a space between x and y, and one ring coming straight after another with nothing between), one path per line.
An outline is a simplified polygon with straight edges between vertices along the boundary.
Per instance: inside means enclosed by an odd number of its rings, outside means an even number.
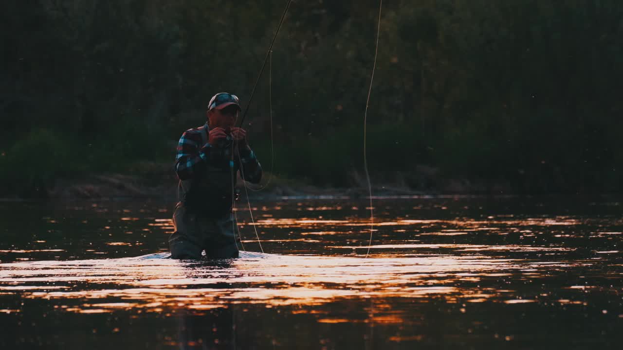
M241 202L217 261L166 258L173 203L0 203L0 346L620 348L621 203L378 198L370 245L366 202Z

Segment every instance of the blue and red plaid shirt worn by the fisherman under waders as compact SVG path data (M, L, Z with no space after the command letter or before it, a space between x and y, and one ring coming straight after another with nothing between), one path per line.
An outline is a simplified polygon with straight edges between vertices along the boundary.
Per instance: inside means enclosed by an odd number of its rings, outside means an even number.
M206 133L209 128L204 125ZM231 161L231 147L215 147L211 144L202 144L201 131L199 129L186 130L178 143L178 154L175 158L175 171L180 180L192 179L195 174L201 174L201 168L209 164L211 166L240 169L240 175L245 181L257 184L262 179L262 166L255 158L255 153L248 145L240 148L240 159L234 153ZM240 161L242 167L240 167Z

